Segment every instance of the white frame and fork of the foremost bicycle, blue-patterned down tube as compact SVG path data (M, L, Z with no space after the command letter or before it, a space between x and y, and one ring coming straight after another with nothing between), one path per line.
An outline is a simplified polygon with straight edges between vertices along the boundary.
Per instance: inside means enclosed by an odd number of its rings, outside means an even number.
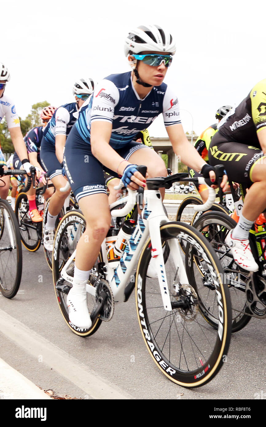
M137 191L129 190L128 200L130 201L129 207L126 208L126 212L123 210L114 210L111 212L113 217L124 216L125 213L129 213L136 203ZM106 243L105 240L102 242L102 256L103 262L106 268L106 279L111 286L111 290L114 295L114 301L121 303L126 301L125 288L129 281L132 281L131 275L134 265L140 257L140 253L150 236L152 245L152 258L155 260L155 269L158 275L159 286L161 290L162 301L165 310L172 310L170 294L167 284L166 272L164 267L164 254L161 244L160 225L170 222L167 218L161 200L161 193L158 190L145 190L144 198L146 199L145 208L142 211L141 217L137 221L137 225L133 231L131 238L126 246L123 256L120 258L119 265L116 269L112 268L108 263ZM120 199L120 203L123 203L123 199ZM74 213L73 213L74 215ZM171 239L172 240L172 239ZM174 245L174 247L173 247ZM170 249L174 257L175 267L178 268L178 274L181 284L187 284L187 275L181 258L180 249L178 243L172 241L170 243ZM76 255L76 250L73 252L67 263L61 270L61 276L66 281L73 281L73 278L67 275L67 269L70 266ZM87 292L95 295L96 289L90 285L87 286Z

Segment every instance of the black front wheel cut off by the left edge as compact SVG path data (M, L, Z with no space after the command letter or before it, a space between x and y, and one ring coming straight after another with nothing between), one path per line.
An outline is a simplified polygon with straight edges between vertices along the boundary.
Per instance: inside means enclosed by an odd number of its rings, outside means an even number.
M0 291L6 298L18 292L22 273L20 231L13 209L0 199Z

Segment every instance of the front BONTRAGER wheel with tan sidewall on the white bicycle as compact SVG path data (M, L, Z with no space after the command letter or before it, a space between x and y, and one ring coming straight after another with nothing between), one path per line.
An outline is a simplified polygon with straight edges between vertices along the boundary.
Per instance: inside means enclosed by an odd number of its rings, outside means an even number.
M158 278L146 276L151 260L148 239L136 273L140 330L152 359L167 378L184 387L202 386L218 373L228 352L231 338L228 287L222 283L221 263L199 231L178 222L162 225L160 230L162 243L170 248L165 268L172 307L170 311L164 309ZM184 243L186 255L180 251L179 242ZM219 319L217 329L199 308L195 283L202 276L193 262L195 257L205 260L205 269L215 288L213 312ZM187 279L183 278L182 282L179 280L181 263L187 273Z

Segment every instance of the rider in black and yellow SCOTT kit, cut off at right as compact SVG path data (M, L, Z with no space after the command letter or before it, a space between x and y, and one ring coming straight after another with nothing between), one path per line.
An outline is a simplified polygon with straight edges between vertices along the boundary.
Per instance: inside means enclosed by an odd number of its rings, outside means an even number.
M238 265L257 271L248 234L266 207L266 79L219 123L210 143L209 161L212 166L223 164L230 180L250 187L237 226L226 242Z

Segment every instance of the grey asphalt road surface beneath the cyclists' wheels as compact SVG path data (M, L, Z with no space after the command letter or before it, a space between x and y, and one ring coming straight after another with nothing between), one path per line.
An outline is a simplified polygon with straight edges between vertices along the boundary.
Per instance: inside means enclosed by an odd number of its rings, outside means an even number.
M198 389L168 380L140 333L132 293L111 322L91 337L70 331L61 316L43 248L23 248L18 294L0 295L0 357L43 389L83 399L249 399L266 395L265 322L251 319L231 339L219 374ZM23 398L23 396L21 396ZM3 397L2 397L3 398Z

